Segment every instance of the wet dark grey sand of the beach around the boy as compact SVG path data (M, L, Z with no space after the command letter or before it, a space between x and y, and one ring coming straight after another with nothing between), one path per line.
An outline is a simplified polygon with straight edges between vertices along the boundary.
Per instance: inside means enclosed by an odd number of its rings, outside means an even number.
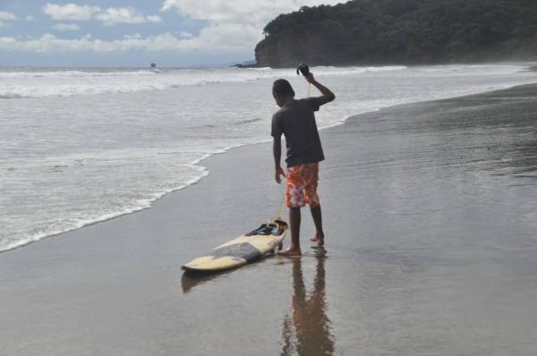
M329 110L329 106L326 108ZM2 355L534 355L537 86L322 131L326 257L180 267L276 213L270 146L153 208L0 254Z

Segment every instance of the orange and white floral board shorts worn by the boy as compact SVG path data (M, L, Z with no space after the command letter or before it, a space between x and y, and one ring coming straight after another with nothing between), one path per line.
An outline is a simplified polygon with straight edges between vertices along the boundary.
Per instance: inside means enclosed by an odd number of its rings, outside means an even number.
M319 163L287 168L286 180L287 208L301 208L306 204L310 204L311 208L320 206L317 195Z

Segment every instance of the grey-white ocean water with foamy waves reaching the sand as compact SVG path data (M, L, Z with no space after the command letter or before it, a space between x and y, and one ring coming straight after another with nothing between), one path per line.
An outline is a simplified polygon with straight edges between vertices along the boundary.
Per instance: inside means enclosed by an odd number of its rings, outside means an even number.
M312 68L337 95L318 124L537 82L528 65ZM308 95L293 69L0 68L0 251L149 208L270 140L278 78Z

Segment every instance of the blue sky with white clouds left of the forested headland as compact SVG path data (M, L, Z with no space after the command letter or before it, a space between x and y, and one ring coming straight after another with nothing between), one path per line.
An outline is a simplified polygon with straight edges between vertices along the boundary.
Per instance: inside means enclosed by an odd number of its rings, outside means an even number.
M252 60L280 13L342 0L0 0L0 66L212 66Z

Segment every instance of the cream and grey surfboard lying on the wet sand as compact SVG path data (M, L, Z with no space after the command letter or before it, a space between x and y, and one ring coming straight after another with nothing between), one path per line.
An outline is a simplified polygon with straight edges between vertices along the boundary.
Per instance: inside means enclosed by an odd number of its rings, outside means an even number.
M207 255L183 265L185 271L211 272L241 267L260 259L279 246L286 238L287 223L274 219L250 233L226 242Z

